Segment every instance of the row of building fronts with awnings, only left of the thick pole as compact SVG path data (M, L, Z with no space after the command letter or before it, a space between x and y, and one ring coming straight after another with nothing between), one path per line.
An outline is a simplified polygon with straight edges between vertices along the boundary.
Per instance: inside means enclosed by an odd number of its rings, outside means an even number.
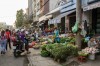
M33 20L43 29L56 26L61 33L70 31L76 22L76 0L32 0Z

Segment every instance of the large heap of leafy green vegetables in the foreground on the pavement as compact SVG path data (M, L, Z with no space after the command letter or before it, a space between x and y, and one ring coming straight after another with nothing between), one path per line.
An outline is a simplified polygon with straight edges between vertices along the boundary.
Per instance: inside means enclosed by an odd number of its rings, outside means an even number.
M42 46L41 55L43 57L52 56L56 60L66 60L68 56L75 56L78 54L77 46L72 44L48 44Z

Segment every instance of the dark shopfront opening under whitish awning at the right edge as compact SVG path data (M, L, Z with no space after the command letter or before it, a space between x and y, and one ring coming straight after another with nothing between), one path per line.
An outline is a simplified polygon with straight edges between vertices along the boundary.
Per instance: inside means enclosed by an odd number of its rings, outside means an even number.
M100 34L100 0L90 0L87 1L87 6L83 7L83 11L88 12L87 14L89 14L89 11L91 11L91 19L89 21L92 20L92 22L90 23L90 26L92 27L92 31L95 34Z

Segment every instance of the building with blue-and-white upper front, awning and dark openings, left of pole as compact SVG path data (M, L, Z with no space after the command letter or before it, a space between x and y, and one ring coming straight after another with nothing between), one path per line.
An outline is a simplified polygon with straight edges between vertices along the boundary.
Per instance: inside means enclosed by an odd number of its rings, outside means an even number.
M66 33L76 22L76 0L60 0L58 4L58 7L51 12L53 19L49 24L56 24L61 33Z

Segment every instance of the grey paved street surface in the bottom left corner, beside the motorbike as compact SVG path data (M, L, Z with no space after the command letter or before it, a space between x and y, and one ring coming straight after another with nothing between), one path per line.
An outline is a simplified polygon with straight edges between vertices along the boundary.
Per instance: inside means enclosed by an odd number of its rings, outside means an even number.
M24 57L14 58L11 50L5 55L0 54L0 66L23 66L24 60Z

